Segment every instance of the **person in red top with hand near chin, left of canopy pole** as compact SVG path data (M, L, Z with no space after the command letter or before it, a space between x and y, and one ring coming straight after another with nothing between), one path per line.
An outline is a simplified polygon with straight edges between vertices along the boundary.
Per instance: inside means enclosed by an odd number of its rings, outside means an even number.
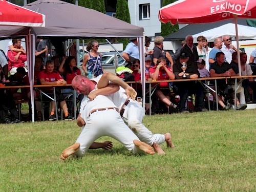
M15 49L19 50L19 52L12 51L12 50L9 50L7 52L7 56L9 59L8 60L8 70L11 75L16 73L16 70L18 67L24 67L25 71L28 72L28 70L25 68L25 61L27 60L26 51L23 49L20 49L21 48L20 42L21 42L21 40L19 40L19 39L12 40L13 47Z

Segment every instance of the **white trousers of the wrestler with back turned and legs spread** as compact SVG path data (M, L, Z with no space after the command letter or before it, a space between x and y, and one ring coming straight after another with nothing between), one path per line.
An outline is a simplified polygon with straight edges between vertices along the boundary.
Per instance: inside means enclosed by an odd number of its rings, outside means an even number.
M134 145L133 140L139 140L139 138L123 122L120 114L116 110L105 110L90 115L76 140L76 143L80 143L80 150L75 155L86 154L91 144L102 136L109 136L118 140L134 154L144 153Z

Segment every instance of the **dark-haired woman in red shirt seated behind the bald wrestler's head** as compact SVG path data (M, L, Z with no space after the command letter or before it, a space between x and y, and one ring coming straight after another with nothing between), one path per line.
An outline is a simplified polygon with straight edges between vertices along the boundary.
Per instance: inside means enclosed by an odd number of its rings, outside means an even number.
M59 72L63 74L63 78L67 81L68 84L72 83L72 80L75 76L81 75L81 71L76 67L76 60L74 56L65 56L58 68ZM63 96L66 98L68 104L68 111L71 116L74 115L74 89L62 89ZM76 92L76 99L80 101L82 99L82 94Z

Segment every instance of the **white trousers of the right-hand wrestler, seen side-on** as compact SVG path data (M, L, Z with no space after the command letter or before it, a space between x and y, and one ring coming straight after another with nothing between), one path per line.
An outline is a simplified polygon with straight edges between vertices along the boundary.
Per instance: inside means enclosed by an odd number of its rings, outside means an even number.
M165 137L162 134L155 134L147 129L142 123L142 119L145 115L144 109L137 101L130 101L127 104L123 113L123 121L130 127L137 137L149 144L153 145L154 142L161 144L165 141Z

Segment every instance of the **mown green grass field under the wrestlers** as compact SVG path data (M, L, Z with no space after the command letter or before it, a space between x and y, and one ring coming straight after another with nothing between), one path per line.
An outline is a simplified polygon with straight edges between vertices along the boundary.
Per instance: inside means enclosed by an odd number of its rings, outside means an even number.
M153 133L170 132L166 155L112 151L59 155L77 139L75 121L0 124L0 191L255 191L256 110L146 116Z

